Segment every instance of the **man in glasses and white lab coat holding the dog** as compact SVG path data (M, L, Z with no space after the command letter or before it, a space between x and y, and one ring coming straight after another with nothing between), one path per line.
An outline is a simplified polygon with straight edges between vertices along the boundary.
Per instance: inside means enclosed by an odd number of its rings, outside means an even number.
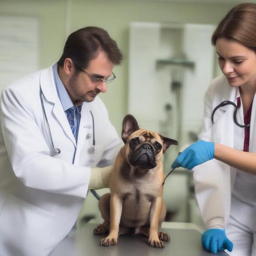
M58 63L3 90L0 255L49 255L76 223L88 187L108 187L122 142L97 95L121 61L105 30L86 27L67 38Z

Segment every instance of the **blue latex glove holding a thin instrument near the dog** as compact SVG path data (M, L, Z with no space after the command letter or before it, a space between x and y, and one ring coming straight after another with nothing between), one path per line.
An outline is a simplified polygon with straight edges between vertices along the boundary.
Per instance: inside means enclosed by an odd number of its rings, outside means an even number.
M172 163L172 169L181 166L191 170L201 163L212 160L214 158L214 146L213 142L199 140L178 155Z

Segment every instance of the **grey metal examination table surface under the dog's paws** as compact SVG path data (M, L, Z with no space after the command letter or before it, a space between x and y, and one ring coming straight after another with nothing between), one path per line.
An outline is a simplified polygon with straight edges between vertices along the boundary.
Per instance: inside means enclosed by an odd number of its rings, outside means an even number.
M93 229L97 224L88 223L78 230L72 230L51 256L213 256L201 247L201 233L191 229L160 229L169 233L171 241L164 242L165 248L157 249L148 245L145 236L119 236L115 246L103 247L99 245L100 239L106 236L93 235ZM216 254L215 254L216 255ZM225 252L217 255L227 256Z

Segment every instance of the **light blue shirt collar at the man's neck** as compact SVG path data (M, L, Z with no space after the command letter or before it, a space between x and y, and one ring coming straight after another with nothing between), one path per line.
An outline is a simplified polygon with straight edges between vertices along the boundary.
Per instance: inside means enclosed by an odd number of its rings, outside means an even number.
M67 109L74 107L74 104L73 104L72 100L70 99L70 96L68 95L67 90L64 87L64 84L62 83L62 81L58 75L57 63L55 63L52 66L52 70L53 70L53 78L54 78L55 86L57 89L58 97L61 101L61 105L62 105L64 111L66 111Z

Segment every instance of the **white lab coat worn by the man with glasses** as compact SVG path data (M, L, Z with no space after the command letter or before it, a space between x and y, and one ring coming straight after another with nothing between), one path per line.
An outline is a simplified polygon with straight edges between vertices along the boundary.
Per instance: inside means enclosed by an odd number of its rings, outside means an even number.
M61 154L50 156L52 140ZM96 154L93 144L92 111ZM90 167L107 166L122 146L96 97L81 109L78 142L56 91L52 67L3 90L0 103L0 255L46 256L69 233L87 195ZM76 155L73 161L73 153ZM87 166L87 167L85 167Z

